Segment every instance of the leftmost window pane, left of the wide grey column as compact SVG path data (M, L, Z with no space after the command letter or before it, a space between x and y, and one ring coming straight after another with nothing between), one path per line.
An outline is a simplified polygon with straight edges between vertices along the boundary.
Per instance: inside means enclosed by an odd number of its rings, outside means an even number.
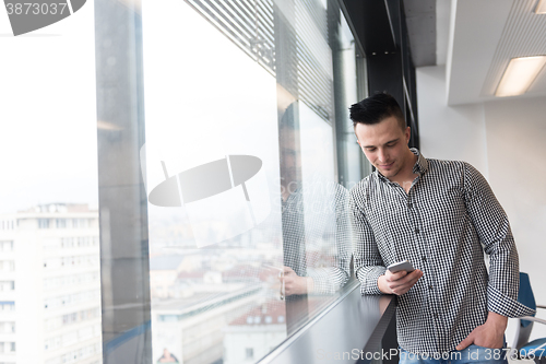
M94 1L16 37L0 13L0 362L102 363L98 244L60 244L98 239Z

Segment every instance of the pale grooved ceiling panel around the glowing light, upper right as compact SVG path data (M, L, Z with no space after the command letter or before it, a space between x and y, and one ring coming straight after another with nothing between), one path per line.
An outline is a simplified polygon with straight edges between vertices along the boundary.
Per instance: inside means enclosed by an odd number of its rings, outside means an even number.
M546 14L533 12L537 1L437 0L437 64L438 49L447 46L449 105L498 99L494 92L511 58L546 55ZM449 26L440 21L446 11ZM546 96L546 68L524 95L512 97L536 96Z

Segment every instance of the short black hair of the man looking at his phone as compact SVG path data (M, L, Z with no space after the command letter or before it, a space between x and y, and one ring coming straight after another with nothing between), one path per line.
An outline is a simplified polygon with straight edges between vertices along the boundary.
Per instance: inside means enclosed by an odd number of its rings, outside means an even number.
M356 127L358 122L366 125L378 124L393 116L399 120L402 130L406 128L399 103L387 92L376 92L373 95L352 105L349 110L353 127Z

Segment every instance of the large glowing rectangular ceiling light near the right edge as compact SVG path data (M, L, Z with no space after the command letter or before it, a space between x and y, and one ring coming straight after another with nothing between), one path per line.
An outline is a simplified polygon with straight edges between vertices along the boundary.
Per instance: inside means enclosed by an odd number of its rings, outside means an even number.
M500 79L495 96L505 97L524 94L544 64L546 64L546 56L512 58Z

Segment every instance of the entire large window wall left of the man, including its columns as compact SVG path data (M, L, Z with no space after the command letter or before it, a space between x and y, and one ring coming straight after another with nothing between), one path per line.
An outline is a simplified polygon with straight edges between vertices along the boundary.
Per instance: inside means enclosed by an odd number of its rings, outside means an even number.
M96 0L0 39L0 362L254 363L355 284L337 1Z

